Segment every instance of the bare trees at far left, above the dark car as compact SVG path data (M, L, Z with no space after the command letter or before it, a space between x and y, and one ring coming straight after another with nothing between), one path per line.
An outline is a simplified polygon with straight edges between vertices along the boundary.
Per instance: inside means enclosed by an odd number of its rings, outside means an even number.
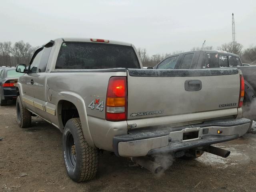
M0 66L16 66L17 64L28 65L37 47L23 41L0 42Z

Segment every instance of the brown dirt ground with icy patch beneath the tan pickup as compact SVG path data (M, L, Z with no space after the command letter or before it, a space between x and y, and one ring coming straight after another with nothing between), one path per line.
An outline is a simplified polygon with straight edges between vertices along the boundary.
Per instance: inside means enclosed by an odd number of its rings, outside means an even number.
M75 183L68 178L62 157L62 135L40 118L19 128L15 104L0 107L0 191L256 191L256 135L218 144L228 158L204 153L196 160L175 160L157 177L128 159L110 152L100 155L96 178Z

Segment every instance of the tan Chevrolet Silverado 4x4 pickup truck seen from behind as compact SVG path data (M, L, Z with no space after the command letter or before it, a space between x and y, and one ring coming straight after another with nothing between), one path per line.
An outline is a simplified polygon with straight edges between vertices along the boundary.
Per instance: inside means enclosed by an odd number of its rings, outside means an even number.
M245 134L243 76L237 68L142 69L129 43L58 38L38 48L18 79L21 128L38 116L62 132L68 176L82 182L97 172L99 151L114 152L154 173L162 156L227 157L212 144Z

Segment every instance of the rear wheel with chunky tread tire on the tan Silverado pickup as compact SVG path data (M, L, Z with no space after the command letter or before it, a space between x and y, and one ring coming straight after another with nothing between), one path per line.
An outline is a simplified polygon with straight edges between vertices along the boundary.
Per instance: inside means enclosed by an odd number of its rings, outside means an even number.
M63 132L62 145L68 176L75 182L94 178L98 170L99 150L86 142L80 118L68 120Z

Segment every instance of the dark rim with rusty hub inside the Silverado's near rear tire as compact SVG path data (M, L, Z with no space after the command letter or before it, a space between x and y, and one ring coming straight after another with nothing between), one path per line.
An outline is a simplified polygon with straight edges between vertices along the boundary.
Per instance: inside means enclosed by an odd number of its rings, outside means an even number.
M76 145L71 133L68 134L66 146L68 164L70 168L74 169L76 166Z

